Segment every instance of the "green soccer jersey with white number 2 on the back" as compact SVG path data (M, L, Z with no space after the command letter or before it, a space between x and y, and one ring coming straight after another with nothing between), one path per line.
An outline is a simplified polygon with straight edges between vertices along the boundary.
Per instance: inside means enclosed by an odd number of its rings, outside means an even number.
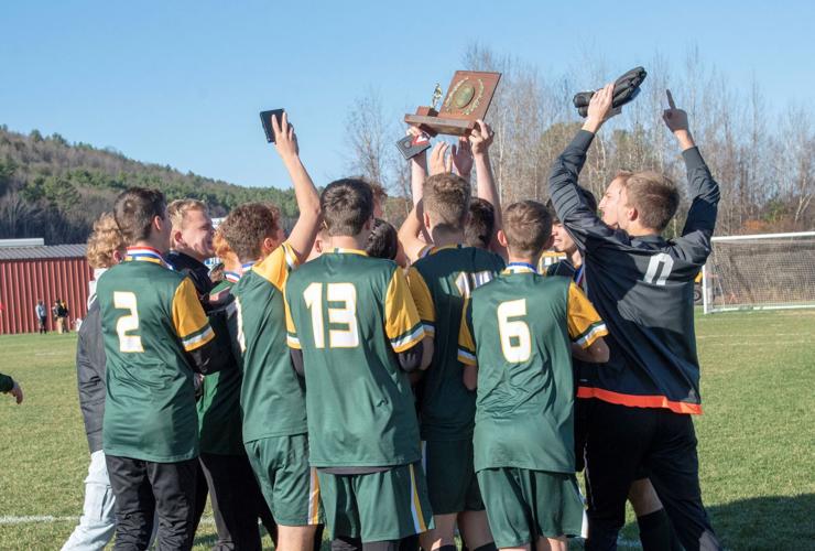
M185 352L215 333L193 282L156 250L129 248L96 289L107 355L105 453L157 463L196 457L198 417Z

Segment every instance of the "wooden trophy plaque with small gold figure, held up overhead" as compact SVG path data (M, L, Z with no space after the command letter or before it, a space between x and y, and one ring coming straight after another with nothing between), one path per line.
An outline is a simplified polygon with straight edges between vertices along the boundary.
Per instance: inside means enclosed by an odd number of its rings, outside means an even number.
M436 85L433 105L420 107L415 115L405 115L404 121L430 136L466 136L476 128L477 119L483 120L500 79L500 73L456 71L438 110L436 101L442 90Z

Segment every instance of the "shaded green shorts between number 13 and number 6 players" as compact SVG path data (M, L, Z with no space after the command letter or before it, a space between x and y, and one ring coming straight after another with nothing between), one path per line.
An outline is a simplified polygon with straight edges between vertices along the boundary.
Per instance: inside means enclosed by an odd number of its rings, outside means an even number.
M422 441L422 465L435 515L482 511L472 465L472 440Z

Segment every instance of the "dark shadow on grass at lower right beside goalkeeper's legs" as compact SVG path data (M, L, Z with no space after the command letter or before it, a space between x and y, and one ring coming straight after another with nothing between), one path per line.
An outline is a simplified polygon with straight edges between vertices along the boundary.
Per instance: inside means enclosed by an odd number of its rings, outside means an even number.
M815 550L815 494L740 499L707 507L707 514L727 550ZM637 522L621 533L637 542L629 549L640 549Z

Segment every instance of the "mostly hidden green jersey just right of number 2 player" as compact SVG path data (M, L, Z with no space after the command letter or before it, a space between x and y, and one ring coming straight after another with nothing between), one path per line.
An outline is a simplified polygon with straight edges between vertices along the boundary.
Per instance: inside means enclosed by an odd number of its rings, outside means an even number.
M210 295L230 290L233 284L235 281L225 279L210 291ZM224 317L210 318L209 323L216 334L228 331ZM241 379L240 369L227 369L204 377L203 393L198 400L200 453L246 455L240 428Z

